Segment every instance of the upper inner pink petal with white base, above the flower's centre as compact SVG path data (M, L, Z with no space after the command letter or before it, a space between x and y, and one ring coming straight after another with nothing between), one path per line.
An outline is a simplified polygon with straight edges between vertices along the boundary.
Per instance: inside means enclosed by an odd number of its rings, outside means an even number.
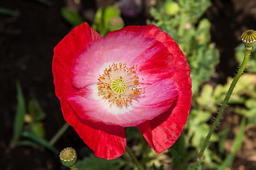
M95 40L77 55L72 65L72 85L82 89L96 84L99 74L103 74L104 69L108 69L113 62L126 63L127 67L137 66L138 75L145 77L141 83L152 84L159 78L154 79L155 76L151 74L149 79L149 73L163 75L172 72L168 55L165 45L144 34L128 31L113 33Z

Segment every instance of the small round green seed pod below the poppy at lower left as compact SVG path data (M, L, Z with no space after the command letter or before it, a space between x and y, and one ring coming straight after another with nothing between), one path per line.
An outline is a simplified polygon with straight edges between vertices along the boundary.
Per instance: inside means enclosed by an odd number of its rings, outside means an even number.
M67 147L60 152L60 162L69 168L77 161L77 152L72 147Z

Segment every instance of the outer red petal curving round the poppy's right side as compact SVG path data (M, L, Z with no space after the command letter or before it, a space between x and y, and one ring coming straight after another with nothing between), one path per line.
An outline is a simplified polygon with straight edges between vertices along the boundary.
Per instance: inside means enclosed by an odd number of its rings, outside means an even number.
M177 101L165 113L138 125L145 140L148 141L155 152L161 153L173 145L187 122L192 95L189 65L182 50L179 49L179 46L172 37L156 26L128 26L122 30L144 33L150 38L155 38L162 42L172 54L172 60L170 60L169 65L172 65L172 69L175 70L171 79L175 82L178 89ZM114 32L118 31L121 30Z

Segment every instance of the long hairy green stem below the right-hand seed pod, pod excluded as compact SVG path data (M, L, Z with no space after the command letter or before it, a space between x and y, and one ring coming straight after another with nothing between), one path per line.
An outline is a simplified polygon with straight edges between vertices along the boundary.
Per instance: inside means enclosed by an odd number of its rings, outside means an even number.
M230 87L228 89L228 93L226 94L226 97L224 98L224 101L223 101L223 104L221 106L221 109L218 112L218 116L217 116L216 120L214 121L213 125L211 126L211 129L208 132L208 135L207 135L206 139L204 140L204 144L201 147L201 150L200 150L200 152L199 152L199 154L197 156L196 162L194 163L194 166L193 166L192 170L196 169L196 167L198 166L201 158L204 156L204 151L205 151L206 147L208 147L208 143L209 143L210 137L211 137L211 135L213 135L214 130L216 129L218 123L221 120L221 117L222 117L222 115L224 113L224 110L225 110L225 108L226 108L226 106L228 104L228 100L229 100L229 98L230 98L230 96L231 96L231 94L233 92L233 89L235 88L235 85L238 82L238 79L241 77L241 75L243 74L243 71L245 70L245 67L246 67L247 62L248 62L249 57L250 57L251 50L252 50L252 47L245 47L245 57L243 59L241 67L240 67L240 69L238 71L238 74L235 75L235 78L233 79L232 83L230 84Z

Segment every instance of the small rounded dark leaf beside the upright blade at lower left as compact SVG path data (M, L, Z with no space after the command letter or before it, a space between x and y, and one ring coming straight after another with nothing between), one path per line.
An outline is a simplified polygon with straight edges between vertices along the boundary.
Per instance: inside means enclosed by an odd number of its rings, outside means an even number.
M28 102L28 113L30 113L34 121L43 120L46 115L38 101L35 99Z

